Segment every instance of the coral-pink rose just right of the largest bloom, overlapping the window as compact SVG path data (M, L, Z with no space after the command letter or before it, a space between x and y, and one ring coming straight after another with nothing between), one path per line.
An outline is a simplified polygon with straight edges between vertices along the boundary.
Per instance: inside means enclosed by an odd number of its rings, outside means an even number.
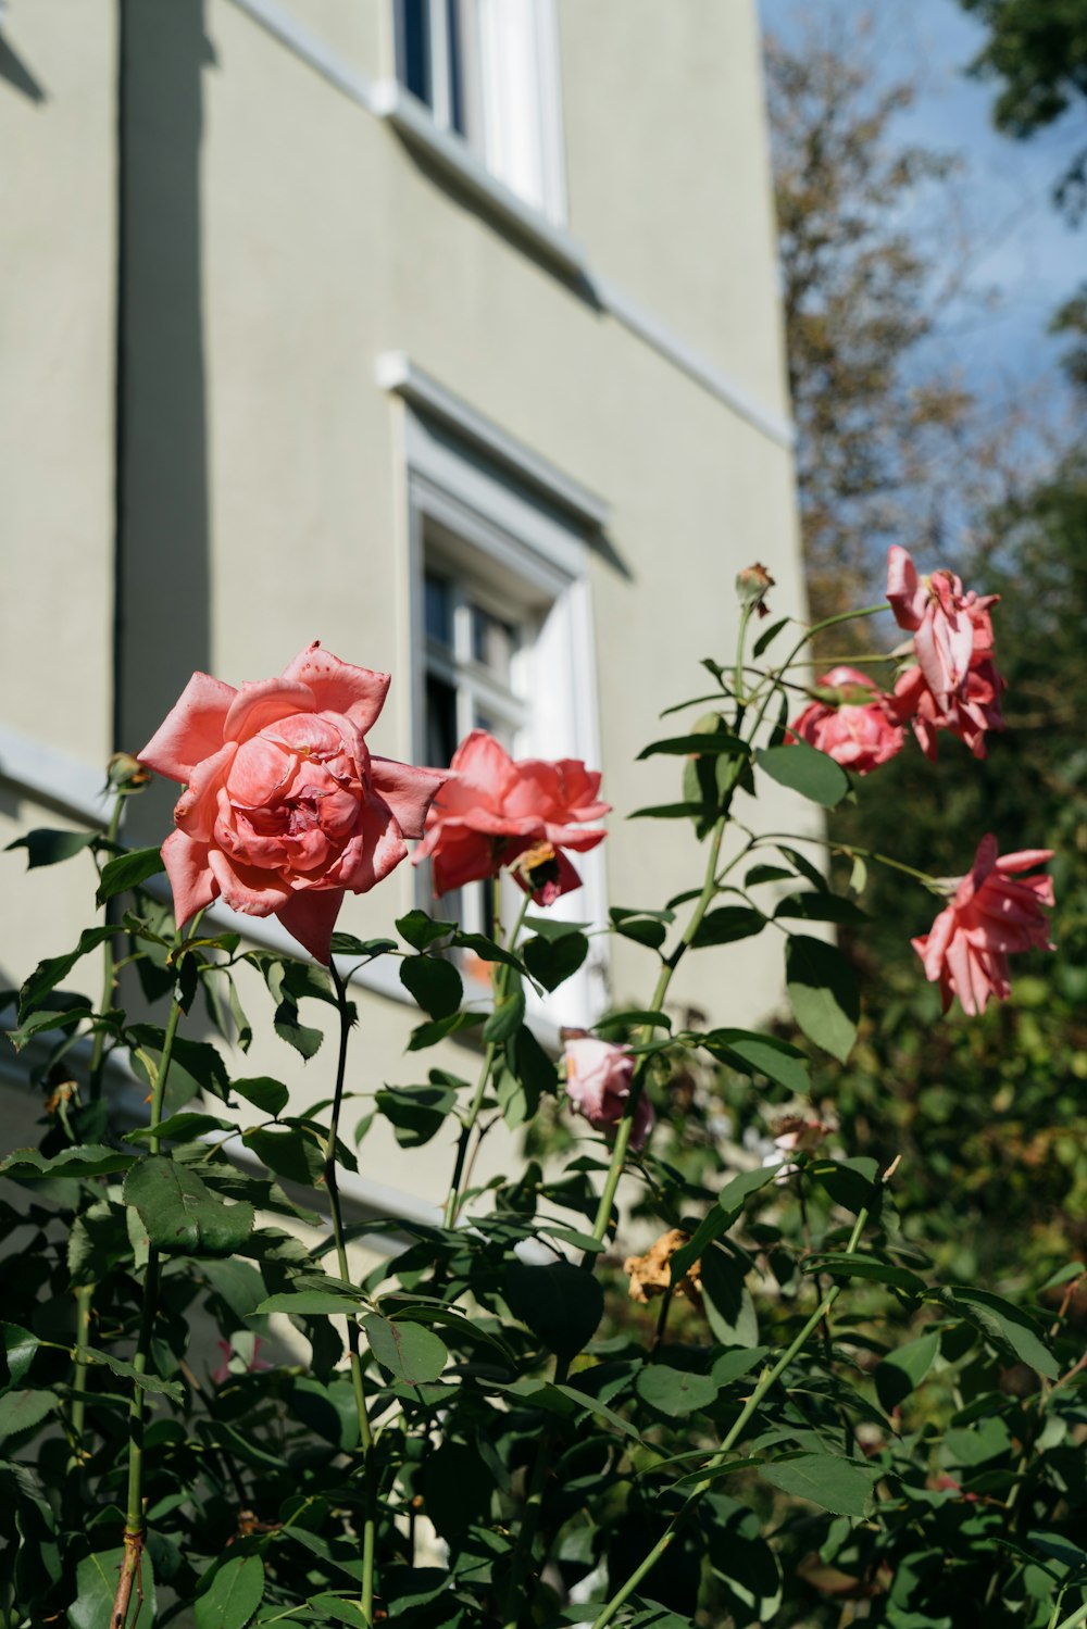
M486 730L473 730L453 754L414 862L430 860L435 894L513 867L536 904L549 906L582 885L564 850L583 854L606 836L590 824L610 810L598 792L600 775L575 757L513 759Z

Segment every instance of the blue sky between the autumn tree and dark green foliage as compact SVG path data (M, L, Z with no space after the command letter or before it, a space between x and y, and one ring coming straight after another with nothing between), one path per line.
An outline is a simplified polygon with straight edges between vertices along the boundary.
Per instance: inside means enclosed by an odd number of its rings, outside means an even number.
M975 386L1012 389L1058 378L1059 344L1046 324L1087 280L1087 223L1071 230L1051 204L1054 176L1084 143L1082 114L1030 142L997 135L992 81L963 73L986 31L957 0L759 0L763 26L786 39L797 18L834 11L872 18L872 59L888 80L918 80L916 104L896 122L903 142L962 153L955 194L973 246L966 298L942 316L940 347ZM924 204L913 222L926 231ZM992 295L992 301L986 300Z

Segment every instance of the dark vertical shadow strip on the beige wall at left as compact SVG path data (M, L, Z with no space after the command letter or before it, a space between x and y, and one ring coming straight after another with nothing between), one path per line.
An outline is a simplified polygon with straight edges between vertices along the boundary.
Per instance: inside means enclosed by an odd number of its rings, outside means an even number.
M202 306L204 0L121 0L116 741L139 751L210 658ZM176 787L135 800L130 841Z

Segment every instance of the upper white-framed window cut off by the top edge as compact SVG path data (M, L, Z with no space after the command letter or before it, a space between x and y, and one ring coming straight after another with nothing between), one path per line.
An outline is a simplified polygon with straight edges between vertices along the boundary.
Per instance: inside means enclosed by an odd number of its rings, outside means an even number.
M494 176L566 217L554 0L394 0L396 77Z

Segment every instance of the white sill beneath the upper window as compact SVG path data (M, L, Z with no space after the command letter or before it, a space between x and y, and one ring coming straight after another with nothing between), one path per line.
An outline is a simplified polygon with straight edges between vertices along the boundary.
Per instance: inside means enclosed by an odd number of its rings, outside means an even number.
M567 277L587 279L588 257L575 238L492 176L460 135L442 130L417 96L396 80L373 86L373 111L401 140L422 153L500 225L517 233Z

